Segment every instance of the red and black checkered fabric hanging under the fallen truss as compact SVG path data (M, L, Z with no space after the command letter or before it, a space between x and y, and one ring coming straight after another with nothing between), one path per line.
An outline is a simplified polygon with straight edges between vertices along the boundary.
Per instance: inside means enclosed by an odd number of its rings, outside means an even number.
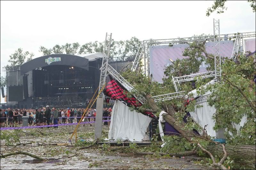
M114 78L112 78L111 75L108 75L107 85L104 89L105 95L107 95L108 97L111 97L114 100L118 99L120 101L125 102L128 107L131 107L131 106L140 107L142 105L135 97L132 96L131 98L128 98L124 90L126 89L124 88L123 85L119 84ZM144 112L142 114L148 115L152 118L156 117L151 112Z

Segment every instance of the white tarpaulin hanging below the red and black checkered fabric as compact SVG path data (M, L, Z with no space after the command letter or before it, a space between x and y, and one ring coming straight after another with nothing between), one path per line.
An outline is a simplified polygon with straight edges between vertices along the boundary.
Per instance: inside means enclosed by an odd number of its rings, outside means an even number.
M131 111L124 103L116 100L112 110L108 139L141 142L150 121L150 117L135 110Z

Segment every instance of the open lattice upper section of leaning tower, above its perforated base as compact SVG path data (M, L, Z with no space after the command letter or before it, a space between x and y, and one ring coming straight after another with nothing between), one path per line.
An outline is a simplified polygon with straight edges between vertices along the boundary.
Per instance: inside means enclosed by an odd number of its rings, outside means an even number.
M108 57L109 57L109 49L110 49L110 44L111 44L111 38L112 38L112 33L108 35L106 33L106 38L105 38L105 45L104 45L104 51L103 51L103 58L102 58L102 65L101 65L101 70L100 70L100 85L99 85L99 93L101 88L105 85L106 83L106 76L107 76L107 68L108 68ZM99 94L99 97L103 98L103 92Z

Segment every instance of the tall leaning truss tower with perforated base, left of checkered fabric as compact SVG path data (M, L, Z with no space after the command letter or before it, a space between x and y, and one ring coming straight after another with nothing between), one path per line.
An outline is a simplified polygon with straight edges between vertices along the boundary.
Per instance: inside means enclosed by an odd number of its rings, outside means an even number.
M99 139L102 135L102 114L103 114L102 108L103 108L103 102L104 102L104 94L103 94L103 91L101 91L101 89L104 88L105 83L106 83L111 37L112 37L112 33L110 33L110 35L108 35L108 33L106 33L102 65L101 65L101 70L100 70L99 97L97 99L97 104L96 104L96 108L97 108L96 125L95 125L95 138L96 139Z

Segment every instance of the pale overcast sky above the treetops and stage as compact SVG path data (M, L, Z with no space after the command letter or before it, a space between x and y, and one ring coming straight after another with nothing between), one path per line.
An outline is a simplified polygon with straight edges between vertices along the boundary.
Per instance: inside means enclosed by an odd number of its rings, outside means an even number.
M227 1L228 10L206 17L213 1L1 1L1 75L16 49L33 52L42 45L116 41L132 36L145 39L213 34L213 18L220 33L255 31L255 13L247 1ZM138 47L139 48L139 47Z

